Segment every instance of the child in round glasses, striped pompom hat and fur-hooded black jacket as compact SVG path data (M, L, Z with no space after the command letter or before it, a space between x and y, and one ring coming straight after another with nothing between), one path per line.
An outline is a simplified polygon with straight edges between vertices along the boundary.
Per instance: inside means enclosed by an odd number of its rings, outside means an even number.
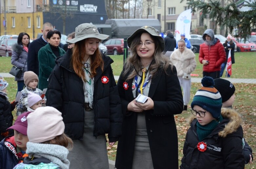
M221 94L213 78L205 76L191 103L190 128L183 147L181 169L224 169L245 167L242 119L222 107ZM209 165L210 164L210 165Z

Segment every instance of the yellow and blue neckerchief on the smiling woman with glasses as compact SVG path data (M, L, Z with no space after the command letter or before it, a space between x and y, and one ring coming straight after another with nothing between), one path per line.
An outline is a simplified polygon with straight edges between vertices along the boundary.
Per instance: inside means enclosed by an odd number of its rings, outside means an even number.
M151 63L152 63L152 61L151 61ZM148 69L149 69L149 67L150 67L150 65L151 65L151 63L149 64L149 66L148 66ZM135 69L135 71L136 71L136 73L137 73L137 75L139 75L140 76L140 74L139 74L139 72ZM141 76L141 80L140 80L140 82L139 82L139 84L138 84L138 82L137 82L137 80L138 80L138 76L136 75L135 76L135 86L136 86L136 97L138 96L138 92L139 93L141 93L141 94L143 94L143 89L147 86L147 84L148 84L148 82L149 82L149 80L151 79L151 74L150 75L148 75L148 80L144 83L144 81L145 81L145 77L147 76L147 73L148 73L148 70L146 69L146 68L143 68L142 69L142 76ZM144 84L143 84L144 83ZM140 88L138 88L138 86L140 86Z

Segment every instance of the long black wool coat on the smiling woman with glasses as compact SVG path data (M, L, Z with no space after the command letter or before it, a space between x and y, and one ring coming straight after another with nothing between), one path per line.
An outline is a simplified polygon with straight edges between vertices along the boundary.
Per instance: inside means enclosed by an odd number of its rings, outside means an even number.
M124 68L125 69L125 68ZM128 111L128 104L134 99L132 81L126 81L121 73L117 86L122 102L124 116L122 136L118 141L115 166L117 169L131 169L135 144L137 113ZM154 169L178 168L178 137L174 114L183 110L183 97L176 68L171 66L167 74L159 68L157 75L151 79L148 97L154 101L154 110L146 110L145 120L148 142Z

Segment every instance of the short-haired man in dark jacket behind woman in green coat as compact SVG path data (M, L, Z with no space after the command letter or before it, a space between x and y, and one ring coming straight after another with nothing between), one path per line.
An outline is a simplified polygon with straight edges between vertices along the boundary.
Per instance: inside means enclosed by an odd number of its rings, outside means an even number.
M50 30L53 30L53 26L49 22L44 23L43 29L41 30L43 35L29 45L27 61L28 71L34 72L37 76L39 75L38 51L48 43L47 33Z

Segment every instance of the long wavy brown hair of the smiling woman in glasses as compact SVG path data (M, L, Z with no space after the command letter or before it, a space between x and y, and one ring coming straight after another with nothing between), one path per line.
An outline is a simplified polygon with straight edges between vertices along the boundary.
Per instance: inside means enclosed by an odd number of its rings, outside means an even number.
M127 74L129 74L127 76L126 80L132 79L134 76L136 76L136 74L137 74L136 70L138 71L142 67L140 57L136 52L136 47L140 43L140 38L141 38L142 33L148 33L148 32L144 31L144 32L139 33L136 37L134 37L134 39L131 42L131 46L130 46L131 56L126 60L124 69L123 69L123 71L124 71L123 77L125 77ZM155 52L153 54L153 60L152 60L150 67L148 68L148 71L150 72L150 74L152 75L152 78L153 78L154 76L156 76L158 69L163 68L165 73L167 73L166 70L167 70L168 66L170 65L171 61L170 61L170 59L163 56L158 38L156 38L155 36L152 36L152 35L150 35L150 37L152 38L152 40L155 43ZM131 73L130 73L130 70L132 70Z

